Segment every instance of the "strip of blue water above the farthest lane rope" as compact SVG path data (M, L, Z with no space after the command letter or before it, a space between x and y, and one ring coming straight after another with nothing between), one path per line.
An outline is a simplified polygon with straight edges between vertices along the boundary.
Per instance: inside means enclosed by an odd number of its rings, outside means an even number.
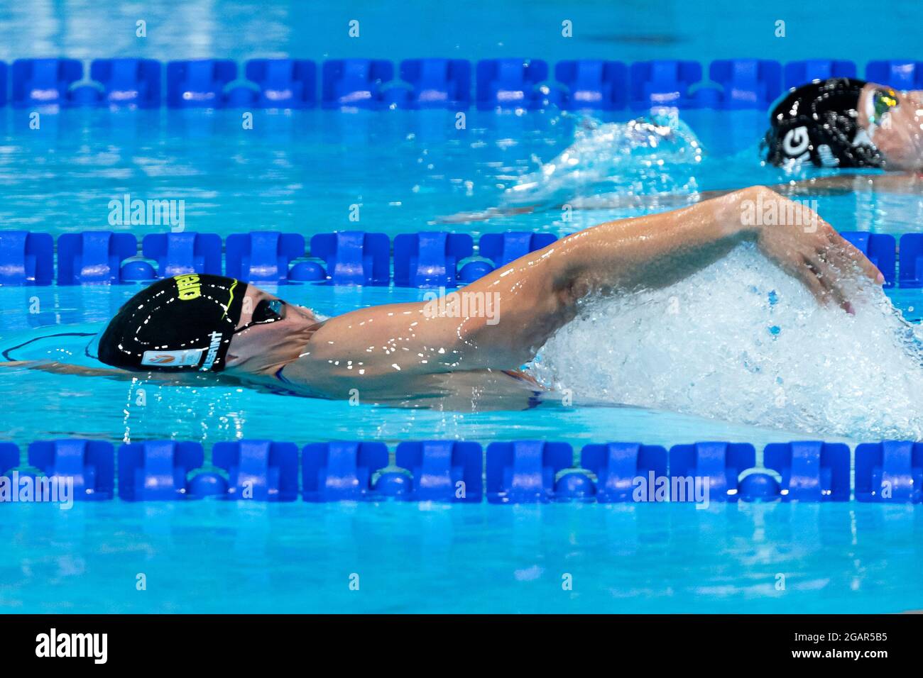
M342 0L258 4L246 0L116 2L35 0L0 6L0 58L144 56L194 59L298 56L310 59L712 59L779 61L907 58L917 54L919 6L894 0L886 11L840 0L835 11L811 3L771 5L715 0L707 5L579 0L471 0L439 4ZM572 22L573 37L561 36ZM136 22L147 22L147 37ZM360 35L347 32L360 22ZM776 22L785 21L785 37Z

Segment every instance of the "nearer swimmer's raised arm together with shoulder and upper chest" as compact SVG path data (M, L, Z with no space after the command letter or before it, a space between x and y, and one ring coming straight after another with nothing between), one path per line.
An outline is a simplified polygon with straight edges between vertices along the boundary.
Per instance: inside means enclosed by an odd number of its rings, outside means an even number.
M748 203L749 201L749 203ZM778 226L748 225L746 210L775 202ZM689 208L610 221L522 256L463 288L467 315L402 303L331 318L308 345L312 375L408 375L509 369L531 360L590 294L663 287L753 241L821 301L848 305L849 271L878 270L807 207L756 186ZM487 304L493 304L489 306ZM479 304L479 305L478 305ZM462 306L463 308L464 306ZM493 313L472 313L473 308ZM427 310L428 309L428 310Z

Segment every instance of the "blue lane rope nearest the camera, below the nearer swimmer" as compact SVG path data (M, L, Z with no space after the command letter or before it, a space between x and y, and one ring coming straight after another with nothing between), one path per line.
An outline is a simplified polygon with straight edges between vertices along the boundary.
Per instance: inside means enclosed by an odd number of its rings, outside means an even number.
M18 446L0 443L0 498L17 479L37 482L38 469L49 481L71 479L78 500L117 494L124 501L291 502L300 496L321 503L479 503L485 496L491 504L923 502L921 442L864 443L855 451L842 443L772 443L763 458L764 466L756 467L755 447L747 443L667 450L610 442L583 446L575 463L573 448L557 441L495 442L485 450L473 441L429 440L399 443L392 464L388 446L378 441L311 443L299 450L290 442L239 440L215 444L206 469L195 442L126 443L116 453L100 440L42 440L29 446L31 469L20 465ZM707 494L700 494L701 486Z

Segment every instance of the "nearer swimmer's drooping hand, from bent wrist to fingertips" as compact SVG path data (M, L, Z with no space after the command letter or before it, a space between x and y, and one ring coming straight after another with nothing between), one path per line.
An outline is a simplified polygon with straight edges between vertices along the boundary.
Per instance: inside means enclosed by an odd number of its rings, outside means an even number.
M857 278L884 282L881 271L865 255L806 205L764 186L737 196L743 228L754 234L761 252L807 285L821 303L837 303L852 313L849 297ZM777 218L767 219L773 209ZM748 210L753 210L756 224L750 223Z

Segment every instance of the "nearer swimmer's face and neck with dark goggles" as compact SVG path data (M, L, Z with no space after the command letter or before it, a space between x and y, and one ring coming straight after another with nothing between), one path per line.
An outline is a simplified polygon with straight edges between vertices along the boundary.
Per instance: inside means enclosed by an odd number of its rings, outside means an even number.
M253 285L247 287L238 332L228 349L228 373L271 374L305 351L312 334L309 330L318 323L318 318L303 306L286 303L282 319L266 322L269 304L260 302L274 300L281 301Z

